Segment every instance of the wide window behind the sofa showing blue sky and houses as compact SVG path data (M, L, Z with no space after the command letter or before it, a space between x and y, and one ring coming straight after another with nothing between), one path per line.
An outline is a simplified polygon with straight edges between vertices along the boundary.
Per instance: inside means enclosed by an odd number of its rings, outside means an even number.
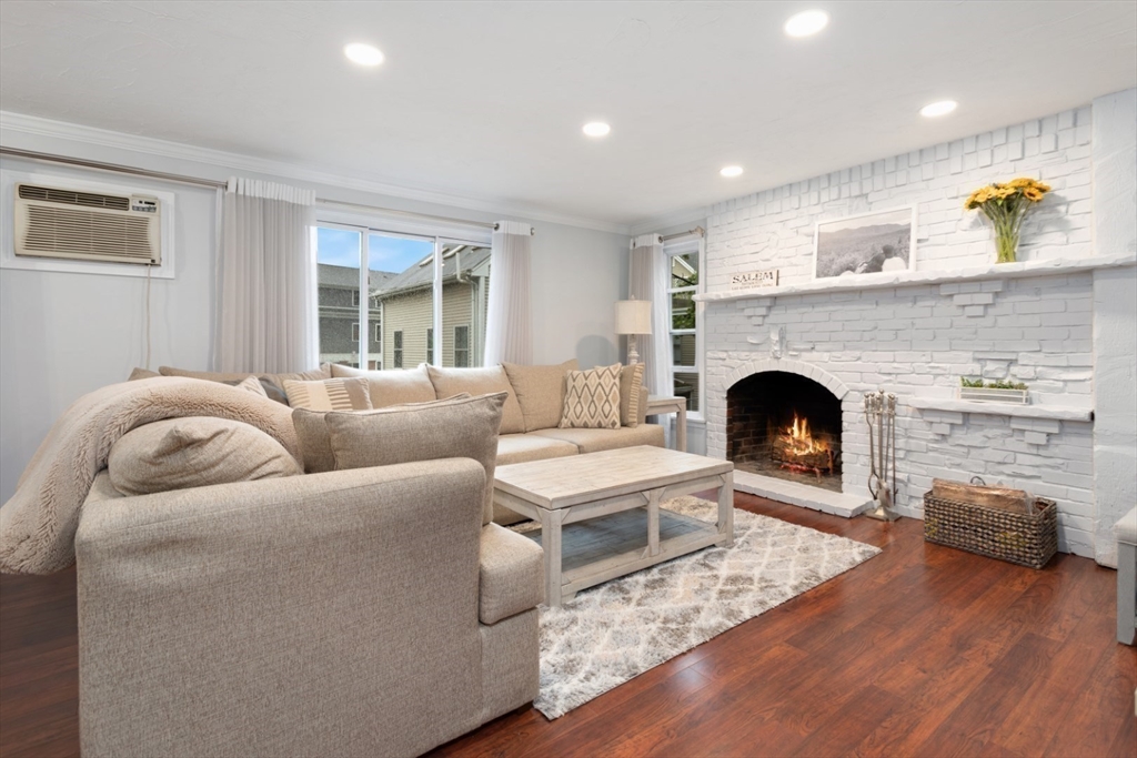
M323 213L316 228L321 363L481 365L489 243L488 228L432 233L421 222Z

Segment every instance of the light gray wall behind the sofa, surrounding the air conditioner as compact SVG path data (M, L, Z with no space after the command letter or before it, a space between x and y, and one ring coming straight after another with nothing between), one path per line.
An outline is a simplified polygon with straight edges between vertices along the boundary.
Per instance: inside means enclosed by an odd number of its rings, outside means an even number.
M223 180L224 166L69 139L6 131L7 147ZM215 193L184 184L3 159L3 168L136 184L176 193L176 276L153 280L150 365L206 369L213 353ZM263 178L272 176L259 175ZM513 218L335 186L323 199L470 220ZM515 218L516 220L526 220ZM533 223L533 357L582 366L615 363L613 302L628 286L628 236ZM10 230L3 230L10 235ZM7 242L10 244L10 241ZM121 382L144 361L146 280L0 269L0 502L51 424L82 394Z

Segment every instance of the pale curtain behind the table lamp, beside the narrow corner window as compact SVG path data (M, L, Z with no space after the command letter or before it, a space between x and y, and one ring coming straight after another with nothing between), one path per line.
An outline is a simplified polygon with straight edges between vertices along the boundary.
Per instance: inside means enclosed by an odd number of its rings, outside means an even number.
M652 301L652 335L639 341L644 384L652 394L674 393L671 375L671 323L667 302L667 260L663 255L663 238L641 234L632 241L628 294Z

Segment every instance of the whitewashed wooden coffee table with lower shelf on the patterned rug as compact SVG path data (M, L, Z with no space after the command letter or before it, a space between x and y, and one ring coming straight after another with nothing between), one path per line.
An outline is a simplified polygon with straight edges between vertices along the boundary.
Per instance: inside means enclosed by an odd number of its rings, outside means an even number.
M540 523L546 603L559 606L580 590L617 576L712 544L733 544L733 469L729 460L677 450L622 448L499 466L493 500ZM717 523L665 510L670 526L661 539L659 503L706 490L717 491ZM564 527L571 524L638 509L642 511L630 517L640 517L639 524L645 528L640 532L640 544L631 549L628 518L622 527L613 523L611 527L594 530L579 543L564 539ZM641 517L644 511L646 518ZM612 545L612 550L606 545ZM563 570L563 561L570 557L566 550L578 551L576 565Z

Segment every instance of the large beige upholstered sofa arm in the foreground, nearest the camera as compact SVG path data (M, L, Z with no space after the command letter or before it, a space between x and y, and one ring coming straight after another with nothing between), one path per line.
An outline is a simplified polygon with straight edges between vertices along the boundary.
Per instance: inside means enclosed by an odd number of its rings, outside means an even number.
M443 459L84 506L82 752L416 755L475 726L484 476Z

